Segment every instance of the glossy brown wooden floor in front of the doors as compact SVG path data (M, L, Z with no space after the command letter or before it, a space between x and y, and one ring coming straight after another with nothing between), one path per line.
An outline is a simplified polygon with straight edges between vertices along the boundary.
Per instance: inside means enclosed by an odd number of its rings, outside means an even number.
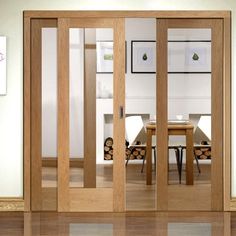
M0 213L0 236L230 236L236 213Z

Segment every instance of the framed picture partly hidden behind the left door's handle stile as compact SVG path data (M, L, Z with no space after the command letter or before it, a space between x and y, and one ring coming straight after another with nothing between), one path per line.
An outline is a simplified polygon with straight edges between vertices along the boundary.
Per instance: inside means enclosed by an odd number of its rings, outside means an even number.
M97 74L113 73L113 41L97 41ZM125 72L126 72L126 42L125 42Z

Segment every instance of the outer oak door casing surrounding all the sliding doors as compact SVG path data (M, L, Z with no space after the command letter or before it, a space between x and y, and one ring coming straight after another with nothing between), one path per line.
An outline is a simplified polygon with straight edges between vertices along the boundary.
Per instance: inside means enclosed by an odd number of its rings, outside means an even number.
M60 18L176 18L223 20L223 205L236 209L231 198L231 12L230 11L24 11L24 210L31 211L31 21ZM121 98L121 99L124 99ZM235 204L234 204L235 202ZM121 209L122 210L122 209Z

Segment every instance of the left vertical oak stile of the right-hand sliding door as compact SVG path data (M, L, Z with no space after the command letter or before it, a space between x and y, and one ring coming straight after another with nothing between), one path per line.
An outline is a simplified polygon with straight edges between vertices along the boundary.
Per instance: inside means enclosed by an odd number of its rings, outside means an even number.
M156 174L156 201L158 211L167 211L168 209L167 26L168 20L157 20L156 117L158 117L158 125L156 127L156 140L157 157L161 157L157 161Z

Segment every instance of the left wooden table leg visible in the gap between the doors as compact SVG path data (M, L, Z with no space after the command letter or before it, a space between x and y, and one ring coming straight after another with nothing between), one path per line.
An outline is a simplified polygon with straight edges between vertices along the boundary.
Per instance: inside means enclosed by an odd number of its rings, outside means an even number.
M147 146L146 146L146 183L152 184L152 131L147 130Z

